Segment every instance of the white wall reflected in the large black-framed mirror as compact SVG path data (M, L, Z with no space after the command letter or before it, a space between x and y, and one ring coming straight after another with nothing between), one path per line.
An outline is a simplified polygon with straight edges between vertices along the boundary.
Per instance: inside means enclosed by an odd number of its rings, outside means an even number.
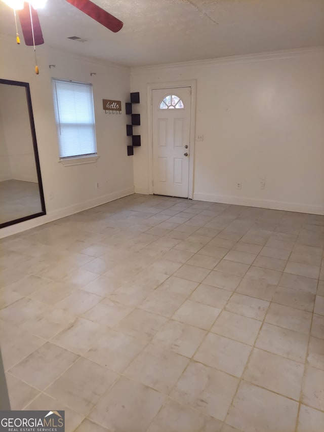
M26 90L24 87L1 84L0 98L10 179L37 183Z

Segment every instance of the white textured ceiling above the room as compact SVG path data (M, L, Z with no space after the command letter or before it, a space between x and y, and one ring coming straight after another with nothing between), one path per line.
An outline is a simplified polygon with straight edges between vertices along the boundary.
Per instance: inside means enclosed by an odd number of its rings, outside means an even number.
M124 27L112 33L65 0L48 0L38 11L45 44L126 66L324 45L324 0L93 2ZM15 36L13 12L1 0L0 33Z

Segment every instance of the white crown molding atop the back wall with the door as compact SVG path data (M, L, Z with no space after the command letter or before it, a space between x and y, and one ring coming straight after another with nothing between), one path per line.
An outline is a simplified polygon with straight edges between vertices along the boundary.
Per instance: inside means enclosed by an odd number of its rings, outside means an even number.
M194 66L214 66L218 64L231 64L231 63L250 63L256 61L269 61L278 59L287 59L292 57L301 57L312 53L324 53L324 46L297 48L293 50L269 51L255 54L244 54L229 57L218 57L213 59L192 60L177 63L164 63L155 64L150 66L136 66L131 67L131 75L140 74L150 70L161 69L176 69L178 67L194 67Z

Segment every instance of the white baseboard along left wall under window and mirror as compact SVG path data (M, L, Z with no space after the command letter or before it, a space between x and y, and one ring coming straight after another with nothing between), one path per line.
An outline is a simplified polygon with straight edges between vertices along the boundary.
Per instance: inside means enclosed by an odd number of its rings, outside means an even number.
M118 190L116 192L109 193L108 195L102 195L101 197L97 197L84 203L74 204L72 206L64 207L62 209L50 211L46 215L39 216L35 219L30 219L26 220L25 222L16 223L15 225L6 226L5 228L0 229L0 239L8 237L9 235L17 234L27 229L35 228L39 225L44 225L45 223L52 222L53 220L61 219L65 216L70 216L74 213L101 206L102 204L109 203L110 201L118 200L118 198L127 197L132 193L134 193L134 187L130 187L124 190Z

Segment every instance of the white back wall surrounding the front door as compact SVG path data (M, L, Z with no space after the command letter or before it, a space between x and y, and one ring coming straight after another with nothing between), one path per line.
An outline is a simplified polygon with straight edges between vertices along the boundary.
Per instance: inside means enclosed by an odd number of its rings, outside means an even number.
M193 198L324 214L323 77L321 49L132 69L135 191L149 187L147 84L196 79Z

